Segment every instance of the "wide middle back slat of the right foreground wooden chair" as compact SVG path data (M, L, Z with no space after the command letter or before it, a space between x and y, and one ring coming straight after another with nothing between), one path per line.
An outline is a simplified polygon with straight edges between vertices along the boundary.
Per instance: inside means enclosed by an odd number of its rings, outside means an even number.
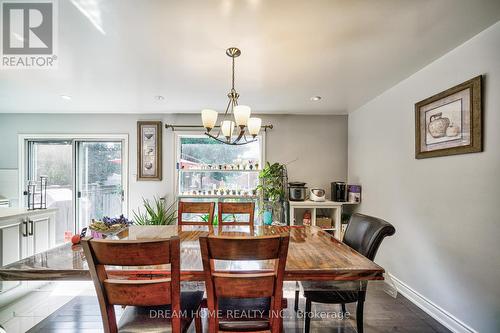
M214 276L213 281L217 297L260 298L274 295L276 276Z

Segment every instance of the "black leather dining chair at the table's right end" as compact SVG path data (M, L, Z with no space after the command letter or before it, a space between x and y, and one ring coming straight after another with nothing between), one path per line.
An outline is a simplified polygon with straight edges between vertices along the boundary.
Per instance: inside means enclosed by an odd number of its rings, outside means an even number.
M343 242L361 253L370 260L375 259L382 240L386 236L392 236L396 229L392 224L382 219L353 214L344 234ZM345 314L345 304L356 302L356 326L358 333L363 333L363 307L366 298L366 281L356 282L320 282L303 281L300 285L306 299L305 333L309 333L311 317L311 303L341 304L342 313ZM295 311L298 310L299 290L295 292Z

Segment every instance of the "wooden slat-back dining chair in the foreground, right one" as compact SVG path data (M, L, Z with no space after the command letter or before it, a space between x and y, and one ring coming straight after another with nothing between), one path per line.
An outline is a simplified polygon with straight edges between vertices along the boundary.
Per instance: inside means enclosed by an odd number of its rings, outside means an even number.
M199 241L209 310L208 332L281 332L289 235L204 235ZM238 271L218 266L238 261L245 261L246 265L250 261L263 263L263 269ZM246 315L230 315L235 313Z

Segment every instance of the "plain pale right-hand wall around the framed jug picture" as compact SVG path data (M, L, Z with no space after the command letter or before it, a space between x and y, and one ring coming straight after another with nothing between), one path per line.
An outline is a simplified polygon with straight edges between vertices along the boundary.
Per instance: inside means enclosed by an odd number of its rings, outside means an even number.
M484 152L416 160L414 104L480 74ZM396 227L377 261L476 331L499 332L500 23L350 114L348 132L360 210Z

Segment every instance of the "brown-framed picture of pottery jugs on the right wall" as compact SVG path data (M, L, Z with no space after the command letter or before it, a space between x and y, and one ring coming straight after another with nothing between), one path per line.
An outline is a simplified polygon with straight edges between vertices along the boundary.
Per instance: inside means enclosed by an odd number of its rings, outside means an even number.
M481 127L477 76L415 104L415 158L480 152Z

